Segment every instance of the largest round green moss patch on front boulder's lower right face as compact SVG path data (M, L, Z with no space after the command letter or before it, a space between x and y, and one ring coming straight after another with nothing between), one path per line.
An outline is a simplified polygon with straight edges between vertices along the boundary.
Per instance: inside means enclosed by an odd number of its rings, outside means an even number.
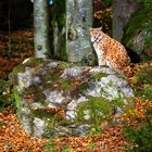
M98 97L89 97L89 101L79 104L78 106L78 117L76 119L77 123L86 122L84 116L86 115L86 111L89 112L90 118L89 123L92 125L100 125L101 122L110 121L110 115L112 115L113 110L111 103L103 98Z

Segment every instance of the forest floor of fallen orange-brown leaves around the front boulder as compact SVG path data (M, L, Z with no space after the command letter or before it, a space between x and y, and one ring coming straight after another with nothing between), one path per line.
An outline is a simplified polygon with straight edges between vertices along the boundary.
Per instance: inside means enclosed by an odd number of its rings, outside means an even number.
M24 59L34 56L31 30L0 34L0 78L5 79L8 74ZM150 63L151 64L151 63ZM142 65L137 64L126 69L130 85L137 84L134 76ZM140 86L144 88L144 86ZM102 131L88 137L64 137L59 139L36 139L27 136L21 128L16 115L11 106L0 112L0 152L123 152L127 145L124 136L126 125L138 128L145 118L145 109L152 107L152 101L144 102L142 98L135 98L135 107L122 117L125 124L102 124Z

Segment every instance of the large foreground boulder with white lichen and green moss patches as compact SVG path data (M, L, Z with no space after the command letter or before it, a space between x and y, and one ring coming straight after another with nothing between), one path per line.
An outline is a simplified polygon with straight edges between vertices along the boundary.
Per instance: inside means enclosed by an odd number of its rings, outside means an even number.
M86 136L134 97L125 76L109 67L30 59L10 79L20 123L38 138Z

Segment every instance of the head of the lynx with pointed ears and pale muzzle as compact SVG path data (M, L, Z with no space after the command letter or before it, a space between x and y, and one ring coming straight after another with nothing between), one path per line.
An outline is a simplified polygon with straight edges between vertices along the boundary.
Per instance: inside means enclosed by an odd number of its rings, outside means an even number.
M100 40L102 39L102 35L103 35L102 27L99 28L90 27L89 30L90 30L91 42L98 42L99 38Z

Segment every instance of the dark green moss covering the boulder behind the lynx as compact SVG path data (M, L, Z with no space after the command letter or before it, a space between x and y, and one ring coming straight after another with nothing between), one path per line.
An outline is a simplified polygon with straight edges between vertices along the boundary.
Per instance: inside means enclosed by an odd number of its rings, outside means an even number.
M143 4L141 4L139 10L131 15L129 23L125 27L123 43L127 47L130 47L130 39L137 36L140 31L152 31L152 2L148 2L149 0L139 1ZM150 46L152 46L152 36L148 35L144 39L144 47Z

